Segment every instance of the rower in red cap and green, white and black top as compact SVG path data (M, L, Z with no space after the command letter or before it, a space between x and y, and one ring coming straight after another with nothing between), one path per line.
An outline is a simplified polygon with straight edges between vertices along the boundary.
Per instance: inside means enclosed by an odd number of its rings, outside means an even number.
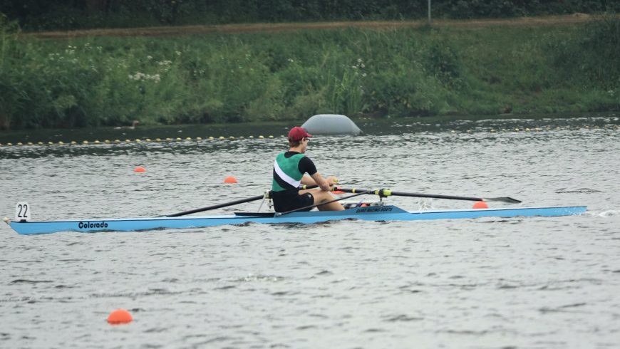
M274 179L272 183L272 199L276 212L287 212L294 209L310 211L313 205L334 200L330 193L331 186L336 184L334 177L324 178L316 170L314 162L306 157L306 147L312 137L304 128L293 127L289 131L289 151L281 152L274 161ZM305 174L308 175L305 175ZM316 189L299 190L299 185L318 186ZM318 207L321 211L343 210L340 202L330 202Z

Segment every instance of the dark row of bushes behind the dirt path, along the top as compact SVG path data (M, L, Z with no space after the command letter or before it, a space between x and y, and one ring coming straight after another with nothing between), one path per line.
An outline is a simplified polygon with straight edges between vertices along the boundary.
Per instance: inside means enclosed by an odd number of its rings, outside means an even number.
M620 11L606 0L433 0L434 18L471 19ZM26 30L182 24L420 19L427 0L0 0Z

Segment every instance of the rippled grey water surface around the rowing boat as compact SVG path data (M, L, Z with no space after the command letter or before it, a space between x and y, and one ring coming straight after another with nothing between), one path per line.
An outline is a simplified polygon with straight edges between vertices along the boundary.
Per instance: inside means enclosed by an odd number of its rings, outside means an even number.
M307 152L347 186L587 205L579 217L38 236L1 224L0 347L617 348L618 117L367 121ZM0 214L26 201L35 219L152 217L252 197L286 146L273 127L262 140L3 146ZM133 323L108 325L115 308Z

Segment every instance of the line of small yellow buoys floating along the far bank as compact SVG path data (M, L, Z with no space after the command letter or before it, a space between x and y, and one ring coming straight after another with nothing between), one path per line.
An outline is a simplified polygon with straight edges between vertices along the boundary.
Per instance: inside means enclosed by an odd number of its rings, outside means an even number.
M475 130L451 130L450 133L472 133L472 132L491 132L491 133L495 133L495 132L544 132L544 131L556 131L556 130L619 130L620 129L620 125L613 125L613 124L607 124L607 125L603 125L603 126L599 126L599 125L581 125L581 126L567 126L567 127L515 127L515 128L500 128L500 129L495 129L495 128L488 128L486 127L486 130L483 129L475 129ZM281 137L286 137L285 135L281 135ZM74 140L72 140L71 142L63 142L63 141L58 141L58 142L17 142L17 143L11 143L11 142L7 142L7 143L0 143L0 147L11 147L11 146L24 146L24 145L119 145L119 144L132 144L132 143L170 143L170 142L201 142L203 140L205 141L215 141L215 140L263 140L263 139L273 139L274 136L273 135L269 135L269 136L263 136L263 135L259 135L257 137L254 136L249 136L249 137L244 137L244 136L239 136L239 137L234 137L234 136L229 136L229 137L224 137L224 136L219 136L219 137L206 137L206 138L202 138L202 137L185 137L185 138L181 138L181 137L167 137L167 138L136 138L133 140L130 139L125 139L125 140L83 140L82 142L76 142Z

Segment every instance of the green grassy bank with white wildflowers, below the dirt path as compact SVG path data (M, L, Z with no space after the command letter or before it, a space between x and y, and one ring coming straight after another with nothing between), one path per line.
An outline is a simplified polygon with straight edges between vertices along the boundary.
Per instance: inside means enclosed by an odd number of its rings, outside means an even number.
M0 127L620 109L620 20L174 38L0 31Z

